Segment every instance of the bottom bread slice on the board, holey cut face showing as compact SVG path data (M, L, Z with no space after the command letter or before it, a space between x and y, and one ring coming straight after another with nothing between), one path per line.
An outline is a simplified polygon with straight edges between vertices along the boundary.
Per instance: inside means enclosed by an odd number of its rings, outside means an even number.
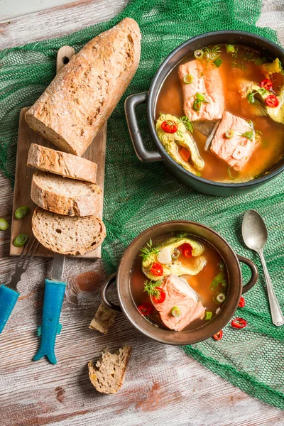
M101 219L95 216L68 217L35 209L31 222L35 238L55 253L84 254L97 249L106 236Z

